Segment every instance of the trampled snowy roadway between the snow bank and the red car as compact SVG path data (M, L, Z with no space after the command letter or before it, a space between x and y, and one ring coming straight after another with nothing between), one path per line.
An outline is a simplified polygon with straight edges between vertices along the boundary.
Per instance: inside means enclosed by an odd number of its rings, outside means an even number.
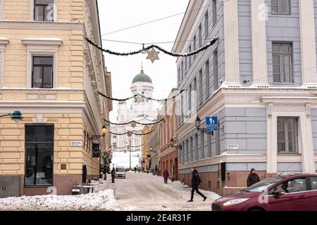
M126 179L116 179L115 198L122 210L211 210L211 203L220 196L211 191L201 191L205 202L197 193L194 202L187 203L192 188L180 181L164 184L162 176L128 172Z

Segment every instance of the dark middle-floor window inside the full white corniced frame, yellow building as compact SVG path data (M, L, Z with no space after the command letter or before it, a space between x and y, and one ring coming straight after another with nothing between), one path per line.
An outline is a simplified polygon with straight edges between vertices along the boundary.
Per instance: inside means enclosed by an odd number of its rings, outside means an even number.
M33 56L32 88L53 87L53 57Z

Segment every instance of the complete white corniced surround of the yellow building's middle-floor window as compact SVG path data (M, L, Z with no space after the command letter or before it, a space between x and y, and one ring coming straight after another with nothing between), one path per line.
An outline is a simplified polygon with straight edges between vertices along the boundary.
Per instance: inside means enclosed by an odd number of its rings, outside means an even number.
M32 56L53 56L54 61L52 89L56 89L58 79L58 46L60 46L63 41L59 38L25 38L22 39L22 42L27 46L27 89L32 89Z

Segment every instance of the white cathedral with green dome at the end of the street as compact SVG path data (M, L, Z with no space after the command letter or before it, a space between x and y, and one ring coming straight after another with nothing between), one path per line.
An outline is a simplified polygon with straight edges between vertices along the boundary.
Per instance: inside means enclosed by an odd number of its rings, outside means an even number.
M142 94L148 98L153 96L154 86L151 78L144 74L143 68L139 75L136 75L132 80L131 94ZM126 125L111 125L111 143L113 150L113 165L123 166L126 168L140 166L139 159L142 158L141 146L142 136L135 134L142 134L144 125L156 121L159 113L159 102L152 101L147 98L140 98L136 101L132 98L128 101L120 102L118 105L118 124L127 123L132 120L141 124L126 124ZM128 131L135 134L128 136ZM118 135L125 134L125 135ZM129 147L128 147L129 146ZM131 146L131 148L130 148ZM139 157L138 157L139 155Z

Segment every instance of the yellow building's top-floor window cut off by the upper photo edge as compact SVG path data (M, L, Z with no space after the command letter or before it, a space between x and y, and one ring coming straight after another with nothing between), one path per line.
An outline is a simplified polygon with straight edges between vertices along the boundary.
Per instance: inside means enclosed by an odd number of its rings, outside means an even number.
M35 21L54 21L54 0L35 0Z

